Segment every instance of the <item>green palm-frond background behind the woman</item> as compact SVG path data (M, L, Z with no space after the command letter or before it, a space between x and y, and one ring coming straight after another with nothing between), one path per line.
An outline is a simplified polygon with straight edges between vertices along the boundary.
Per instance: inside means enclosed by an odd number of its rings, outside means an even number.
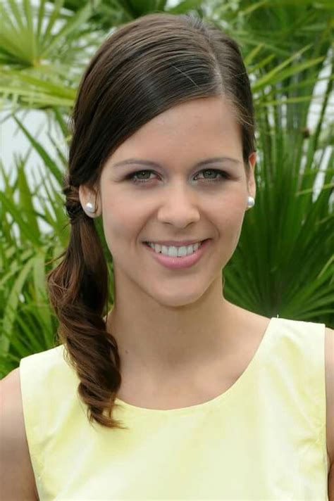
M333 1L2 0L0 378L56 344L45 276L68 242L61 184L82 72L118 25L158 11L230 34L252 83L256 204L223 269L225 298L334 327Z

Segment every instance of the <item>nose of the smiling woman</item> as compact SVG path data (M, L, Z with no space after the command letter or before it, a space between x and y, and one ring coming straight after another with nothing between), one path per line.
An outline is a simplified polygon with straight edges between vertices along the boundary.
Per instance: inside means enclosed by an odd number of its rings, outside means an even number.
M196 194L190 192L189 186L183 183L173 184L163 195L163 202L158 211L158 220L185 228L192 222L199 221L200 213Z

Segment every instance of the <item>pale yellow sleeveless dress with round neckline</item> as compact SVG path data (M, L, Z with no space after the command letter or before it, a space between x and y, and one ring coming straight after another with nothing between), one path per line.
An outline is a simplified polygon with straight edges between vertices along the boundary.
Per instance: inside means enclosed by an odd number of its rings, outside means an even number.
M116 399L127 429L89 424L64 346L20 360L41 501L326 501L325 324L271 318L218 397L153 410Z

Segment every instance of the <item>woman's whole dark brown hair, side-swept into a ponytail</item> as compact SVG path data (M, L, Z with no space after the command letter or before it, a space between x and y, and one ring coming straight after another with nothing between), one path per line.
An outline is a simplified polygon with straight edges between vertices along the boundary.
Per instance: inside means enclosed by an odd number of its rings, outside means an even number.
M82 210L79 186L97 186L113 151L159 113L221 95L240 124L248 176L248 157L255 151L249 79L236 42L215 25L192 15L144 15L113 32L82 77L63 186L70 241L47 281L58 336L80 379L78 393L90 422L124 428L111 417L121 376L116 339L103 318L108 269L94 220Z

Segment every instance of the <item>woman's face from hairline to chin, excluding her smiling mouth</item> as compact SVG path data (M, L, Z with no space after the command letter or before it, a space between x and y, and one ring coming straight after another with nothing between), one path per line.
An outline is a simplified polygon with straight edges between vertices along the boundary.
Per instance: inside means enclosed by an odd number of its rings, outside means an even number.
M196 166L217 157L225 160ZM115 165L129 159L156 165ZM255 153L249 163L254 167ZM169 306L193 303L221 282L247 196L255 196L253 169L247 189L240 128L222 97L182 103L141 127L104 165L99 190L117 290L136 288ZM180 269L161 265L144 243L204 239L211 241L199 261Z

